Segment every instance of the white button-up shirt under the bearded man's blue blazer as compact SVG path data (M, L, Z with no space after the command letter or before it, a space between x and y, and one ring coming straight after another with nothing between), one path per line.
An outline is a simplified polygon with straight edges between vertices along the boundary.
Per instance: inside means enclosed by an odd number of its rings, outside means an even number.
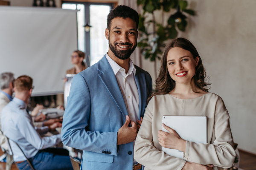
M122 96L125 100L125 105L128 111L128 115L131 121L137 123L137 120L140 120L139 113L139 104L140 104L140 96L138 92L138 88L135 81L136 69L134 67L131 59L129 60L129 70L127 74L125 74L125 69L118 65L111 57L109 57L108 53L106 54L106 58L108 59L111 68L114 71L116 76L116 80L118 82L119 88L122 92ZM135 144L135 140L134 140ZM134 160L134 163L136 161Z

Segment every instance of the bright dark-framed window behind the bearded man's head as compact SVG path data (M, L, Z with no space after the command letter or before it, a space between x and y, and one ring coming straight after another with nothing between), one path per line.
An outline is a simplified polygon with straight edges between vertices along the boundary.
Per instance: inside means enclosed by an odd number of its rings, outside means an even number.
M62 9L79 10L77 12L78 49L86 52L88 67L98 62L108 52L105 28L107 28L107 17L112 8L113 4L111 3L74 3L68 1L62 3ZM92 26L89 32L84 31L83 26L86 23Z

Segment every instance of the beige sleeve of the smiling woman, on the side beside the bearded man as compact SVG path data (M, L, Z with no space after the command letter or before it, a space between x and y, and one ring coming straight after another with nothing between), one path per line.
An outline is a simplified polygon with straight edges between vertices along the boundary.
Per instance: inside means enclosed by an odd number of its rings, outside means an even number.
M152 105L153 99L149 102ZM143 122L137 134L134 146L134 159L145 167L153 170L181 170L186 161L169 156L153 145L152 113L146 108Z

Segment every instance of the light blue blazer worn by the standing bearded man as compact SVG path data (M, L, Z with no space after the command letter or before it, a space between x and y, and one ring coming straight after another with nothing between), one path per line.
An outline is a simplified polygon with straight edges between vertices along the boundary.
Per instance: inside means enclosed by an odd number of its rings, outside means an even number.
M140 116L152 92L148 72L135 65ZM116 146L117 132L128 115L107 58L73 77L63 117L63 144L83 150L83 170L132 170L133 142Z

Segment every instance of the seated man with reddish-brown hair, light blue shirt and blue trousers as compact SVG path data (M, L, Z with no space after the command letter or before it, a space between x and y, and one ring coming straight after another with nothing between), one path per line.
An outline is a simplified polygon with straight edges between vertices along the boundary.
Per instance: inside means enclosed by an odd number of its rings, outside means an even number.
M61 134L41 137L40 134L61 127L60 122L51 126L35 127L26 108L32 94L32 78L20 76L15 80L15 98L3 108L1 125L3 133L17 142L29 159L32 166L38 170L73 170L68 151L61 148L49 148L61 141ZM20 170L28 166L25 156L10 140L13 159ZM56 151L58 150L58 151Z

